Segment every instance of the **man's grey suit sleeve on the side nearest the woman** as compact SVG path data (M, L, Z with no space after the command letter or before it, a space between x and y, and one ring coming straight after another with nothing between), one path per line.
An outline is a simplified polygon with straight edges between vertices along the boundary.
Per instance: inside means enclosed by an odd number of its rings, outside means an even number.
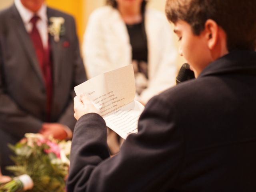
M80 48L78 37L76 35L76 24L74 18L71 19L71 27L72 27L72 56L73 56L73 79L72 79L72 88L70 90L70 100L66 107L66 110L60 116L58 122L60 124L64 124L68 126L71 130L74 130L74 125L76 123L76 119L74 118L74 97L76 96L74 92L74 87L78 84L81 84L87 80L84 64L80 55Z

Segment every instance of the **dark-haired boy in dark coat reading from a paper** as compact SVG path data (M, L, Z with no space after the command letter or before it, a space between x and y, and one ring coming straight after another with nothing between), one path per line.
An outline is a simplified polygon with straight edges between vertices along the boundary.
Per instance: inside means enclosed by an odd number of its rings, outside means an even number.
M69 192L256 190L255 0L167 0L180 54L197 78L152 98L120 153L106 124L74 99Z

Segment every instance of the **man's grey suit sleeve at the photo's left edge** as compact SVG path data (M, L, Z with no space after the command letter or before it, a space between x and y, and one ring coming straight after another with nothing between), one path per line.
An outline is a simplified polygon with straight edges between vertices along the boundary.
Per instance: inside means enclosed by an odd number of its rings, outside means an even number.
M21 110L16 102L8 95L5 86L4 48L0 39L0 129L20 139L27 132L37 133L42 122Z

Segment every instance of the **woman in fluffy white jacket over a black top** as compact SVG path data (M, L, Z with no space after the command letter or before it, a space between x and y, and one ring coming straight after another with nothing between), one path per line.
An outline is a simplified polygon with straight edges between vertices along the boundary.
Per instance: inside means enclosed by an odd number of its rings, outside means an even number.
M88 77L131 63L134 68L146 66L142 76L135 74L136 85L142 84L140 88L136 86L136 100L146 104L175 83L177 51L170 25L162 12L146 8L145 0L107 0L107 4L91 14L84 34L83 57ZM130 31L136 25L141 25L142 31ZM131 34L138 35L133 38ZM140 54L139 50L136 54L136 46L144 47L144 52ZM134 62L133 54L142 57L142 66Z

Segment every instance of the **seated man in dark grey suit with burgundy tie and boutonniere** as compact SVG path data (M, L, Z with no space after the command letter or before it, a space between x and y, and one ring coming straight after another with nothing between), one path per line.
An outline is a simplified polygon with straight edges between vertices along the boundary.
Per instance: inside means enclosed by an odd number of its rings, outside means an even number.
M86 80L74 18L44 0L0 12L0 165L27 132L71 138L74 86ZM50 33L49 33L49 32Z

